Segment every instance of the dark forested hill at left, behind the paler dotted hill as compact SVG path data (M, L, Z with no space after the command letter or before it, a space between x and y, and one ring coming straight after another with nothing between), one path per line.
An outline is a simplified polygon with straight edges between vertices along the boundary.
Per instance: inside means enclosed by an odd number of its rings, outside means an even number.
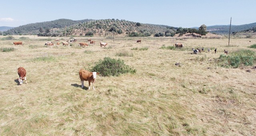
M38 34L41 29L52 29L52 28L63 28L65 26L70 26L74 24L78 24L81 22L90 21L90 19L85 20L70 20L70 19L58 19L53 21L47 21L47 22L38 22L38 23L32 23L32 24L26 24L22 26L18 26L15 28L12 28L10 30L7 30L3 32L3 34L6 35L13 35L13 34Z

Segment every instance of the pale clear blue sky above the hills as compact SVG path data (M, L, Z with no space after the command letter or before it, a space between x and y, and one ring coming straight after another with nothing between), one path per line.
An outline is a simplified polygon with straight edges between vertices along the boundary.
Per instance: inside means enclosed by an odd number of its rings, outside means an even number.
M256 0L2 0L0 26L119 19L192 28L256 22Z

